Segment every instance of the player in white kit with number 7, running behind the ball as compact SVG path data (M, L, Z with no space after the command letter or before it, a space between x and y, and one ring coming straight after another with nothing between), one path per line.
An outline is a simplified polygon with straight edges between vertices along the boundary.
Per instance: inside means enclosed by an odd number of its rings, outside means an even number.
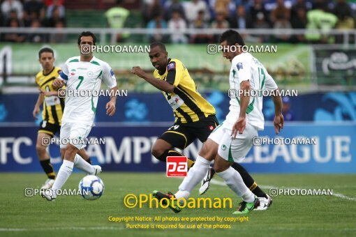
M66 84L66 102L61 125L61 149L66 149L64 160L58 171L57 178L52 186L52 192L45 192L43 196L48 201L57 197L57 190L61 189L73 171L77 167L87 174L98 175L101 167L90 165L83 160L77 151L85 146L84 142L94 126L96 105L101 82L110 88L110 101L106 104L106 114L114 115L117 94L117 82L114 72L109 64L97 59L91 52L91 46L95 45L94 33L84 31L78 38L80 56L74 56L66 61L61 74L54 80L53 86L61 88ZM85 90L86 93L75 93ZM84 96L83 96L84 95ZM68 141L68 144L64 142Z

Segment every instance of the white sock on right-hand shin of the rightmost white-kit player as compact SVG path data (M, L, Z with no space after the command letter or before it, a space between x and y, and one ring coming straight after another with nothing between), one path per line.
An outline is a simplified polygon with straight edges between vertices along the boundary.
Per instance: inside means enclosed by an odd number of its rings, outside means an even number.
M237 196L242 197L244 201L255 201L255 195L251 192L251 190L249 190L249 188L247 188L242 180L242 176L235 169L229 167L225 171L216 174L223 178L226 185L228 185L229 188L237 194Z

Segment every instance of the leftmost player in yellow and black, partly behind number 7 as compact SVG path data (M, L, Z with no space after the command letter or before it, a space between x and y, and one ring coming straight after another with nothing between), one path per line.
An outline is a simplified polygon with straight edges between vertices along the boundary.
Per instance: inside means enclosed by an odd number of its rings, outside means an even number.
M48 47L40 49L38 52L38 61L43 70L36 75L36 85L40 90L38 100L34 107L34 118L40 113L40 105L43 104L42 121L40 128L38 128L38 136L36 142L36 151L40 165L43 171L47 174L47 181L41 187L42 189L51 188L54 183L56 174L54 173L52 164L50 163L50 154L46 151L48 144L44 144L43 138L52 138L57 132L61 130L61 119L64 111L64 98L59 98L58 92L53 88L52 82L59 77L61 68L54 66L54 52ZM47 142L46 142L47 143ZM89 155L84 149L80 151L80 155L87 162L91 162Z

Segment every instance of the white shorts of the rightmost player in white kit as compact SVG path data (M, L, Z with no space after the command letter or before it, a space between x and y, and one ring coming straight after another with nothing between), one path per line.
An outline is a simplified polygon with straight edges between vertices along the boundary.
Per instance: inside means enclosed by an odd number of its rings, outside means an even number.
M258 129L247 123L244 132L242 134L237 132L236 138L232 139L232 125L227 121L221 123L208 139L218 144L218 155L224 160L242 162L253 145L253 137L258 137Z

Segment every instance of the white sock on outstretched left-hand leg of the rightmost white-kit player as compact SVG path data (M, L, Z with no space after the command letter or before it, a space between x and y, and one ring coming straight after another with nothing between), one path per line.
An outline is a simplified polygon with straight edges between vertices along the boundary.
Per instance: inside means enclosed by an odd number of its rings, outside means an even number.
M210 161L202 158L198 155L197 160L191 169L189 169L186 178L179 185L179 191L175 194L177 199L185 198L187 199L191 194L191 190L202 181L205 174L207 174L207 170L209 169Z

